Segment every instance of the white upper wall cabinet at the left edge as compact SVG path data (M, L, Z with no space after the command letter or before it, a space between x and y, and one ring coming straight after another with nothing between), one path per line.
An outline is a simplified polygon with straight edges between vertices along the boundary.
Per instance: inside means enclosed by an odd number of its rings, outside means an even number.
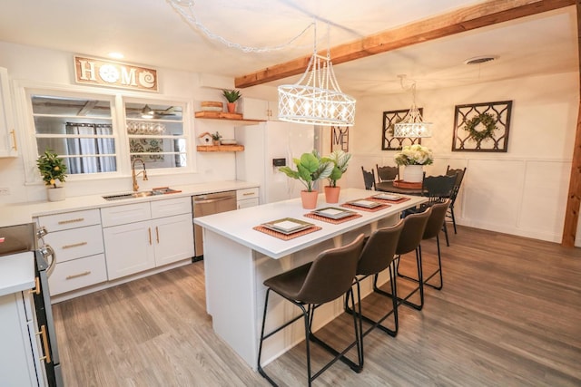
M18 156L8 71L0 67L0 157Z

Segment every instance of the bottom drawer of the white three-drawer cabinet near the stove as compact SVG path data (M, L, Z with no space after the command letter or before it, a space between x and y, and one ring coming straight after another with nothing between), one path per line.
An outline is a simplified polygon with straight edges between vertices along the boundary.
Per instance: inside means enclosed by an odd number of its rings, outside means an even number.
M60 295L106 280L105 256L98 254L57 263L48 277L48 287L51 295Z

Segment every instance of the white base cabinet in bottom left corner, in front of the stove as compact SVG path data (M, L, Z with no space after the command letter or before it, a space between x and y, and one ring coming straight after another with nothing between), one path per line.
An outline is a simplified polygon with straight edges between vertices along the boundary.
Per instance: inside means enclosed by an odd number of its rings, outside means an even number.
M0 382L3 386L44 386L42 364L37 360L39 347L34 347L39 343L34 334L32 302L28 291L0 296Z

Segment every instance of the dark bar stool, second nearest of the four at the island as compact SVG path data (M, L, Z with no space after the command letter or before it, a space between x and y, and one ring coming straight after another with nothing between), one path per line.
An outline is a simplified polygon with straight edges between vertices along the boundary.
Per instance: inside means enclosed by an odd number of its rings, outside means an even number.
M361 319L371 324L367 331L361 331L361 337L366 336L375 328L379 328L383 332L395 337L398 334L398 290L396 285L396 278L394 267L391 265L395 258L396 248L398 247L399 235L403 230L404 220L399 220L399 223L392 227L379 228L367 239L361 256L359 257L359 264L357 265L357 295L359 303L359 311L361 308L361 292L359 282L368 276L375 276L374 281L377 282L379 273L389 268L389 282L391 284L391 294L394 295L392 299L392 307L386 314L383 314L379 319L374 320L369 315L360 314ZM350 292L352 292L352 287ZM352 314L353 310L347 305L348 297L345 298L345 311ZM382 323L393 314L394 328L389 329Z

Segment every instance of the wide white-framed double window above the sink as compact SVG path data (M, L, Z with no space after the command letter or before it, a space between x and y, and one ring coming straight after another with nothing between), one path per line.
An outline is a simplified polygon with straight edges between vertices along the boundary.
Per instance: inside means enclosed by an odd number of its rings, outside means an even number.
M86 174L127 176L136 158L153 174L192 171L188 102L34 85L20 90L34 123L30 167L37 154L53 150L64 159L71 180L93 179Z

